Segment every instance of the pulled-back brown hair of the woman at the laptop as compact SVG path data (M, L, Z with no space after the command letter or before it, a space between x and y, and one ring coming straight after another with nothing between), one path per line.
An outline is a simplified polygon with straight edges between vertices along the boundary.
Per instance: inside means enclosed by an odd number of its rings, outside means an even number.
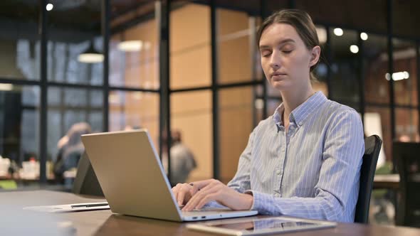
M260 45L260 39L263 31L273 23L287 23L288 25L293 26L296 32L298 32L300 38L302 38L302 41L305 43L305 46L308 48L308 50L312 50L313 47L320 45L315 25L309 14L306 11L298 9L284 9L276 11L275 13L271 14L271 16L268 16L268 18L266 18L261 27L258 29L258 47ZM316 65L317 63L310 67L311 72L316 67Z

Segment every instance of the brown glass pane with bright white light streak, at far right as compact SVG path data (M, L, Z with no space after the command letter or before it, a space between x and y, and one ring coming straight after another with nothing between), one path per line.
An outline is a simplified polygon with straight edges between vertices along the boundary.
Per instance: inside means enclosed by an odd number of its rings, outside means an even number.
M417 60L416 44L411 41L403 41L394 38L393 60L394 73L389 75L394 80L395 103L416 106L417 101Z

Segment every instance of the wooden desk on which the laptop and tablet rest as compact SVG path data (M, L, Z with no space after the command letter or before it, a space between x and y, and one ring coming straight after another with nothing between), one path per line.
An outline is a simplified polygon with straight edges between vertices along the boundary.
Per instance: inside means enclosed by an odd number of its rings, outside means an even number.
M70 235L213 235L204 232L190 231L185 228L185 223L169 222L164 220L152 220L136 218L125 215L112 214L110 210L85 211L78 213L34 213L22 210L24 206L30 205L56 205L68 203L97 202L100 198L83 198L72 193L61 193L53 191L15 191L0 193L0 229L4 229L5 222L14 222L16 227L25 227L26 216L35 215L36 218L48 218L38 220L39 222L57 225L56 222L71 222L75 230ZM9 206L9 208L7 208ZM9 210L9 213L6 210ZM11 211L13 213L11 213ZM262 216L260 216L262 217ZM15 219L15 220L16 220ZM23 220L22 220L23 219ZM33 218L31 218L33 220ZM13 225L11 227L14 227ZM31 229L29 229L31 230ZM1 231L1 232L4 232ZM7 229L6 229L6 232ZM13 235L45 235L42 231L32 230L30 233L14 231ZM337 227L326 230L313 230L294 232L280 235L420 235L419 229L408 227L383 227L376 225L361 225L355 223L339 223Z

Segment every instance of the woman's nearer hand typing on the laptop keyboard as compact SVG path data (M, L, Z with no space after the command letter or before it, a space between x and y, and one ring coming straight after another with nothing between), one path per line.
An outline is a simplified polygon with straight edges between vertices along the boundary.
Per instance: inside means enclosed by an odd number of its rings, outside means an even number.
M189 184L186 184L189 186ZM232 188L224 185L218 180L209 179L206 181L198 181L194 183L194 186L180 186L183 194L180 195L181 191L178 191L177 199L184 200L187 205L182 210L194 210L201 209L206 203L211 200L216 200L221 205L225 205L232 210L250 210L253 204L253 196L244 193L238 193ZM184 188L182 188L184 187ZM175 186L174 188L177 188ZM187 188L189 189L189 195L186 195Z

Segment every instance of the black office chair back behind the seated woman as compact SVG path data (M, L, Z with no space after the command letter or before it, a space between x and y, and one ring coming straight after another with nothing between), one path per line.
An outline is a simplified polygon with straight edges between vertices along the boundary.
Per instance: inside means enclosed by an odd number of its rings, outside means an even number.
M382 140L377 135L364 139L364 155L360 168L359 197L357 198L355 222L367 224L369 218L369 203L372 193L374 173L377 168Z

